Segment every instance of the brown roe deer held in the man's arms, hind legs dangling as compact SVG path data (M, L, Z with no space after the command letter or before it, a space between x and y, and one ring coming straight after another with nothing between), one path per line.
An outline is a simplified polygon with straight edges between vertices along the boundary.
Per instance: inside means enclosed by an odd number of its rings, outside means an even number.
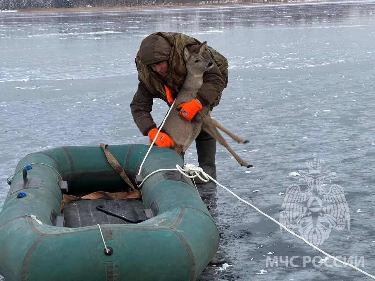
M180 115L180 112L177 111L177 105L184 102L190 102L192 99L196 98L198 90L203 84L204 72L213 67L213 63L210 60L206 60L202 57L206 45L206 41L199 45L198 54L194 52L190 53L187 48L184 47L183 58L185 60L187 70L186 79L181 87L181 90L177 94L173 108L166 118L160 132L168 134L173 139L175 146L172 149L180 153L185 152L199 135L201 130L204 130L214 139L216 139L217 142L225 146L225 148L231 152L241 166L248 168L252 167L252 165L246 163L242 158L239 157L239 155L237 155L236 152L233 151L223 136L219 133L217 128L225 132L239 143L247 143L248 140L234 135L233 133L229 132L229 130L225 129L219 122L212 119L209 106L203 106L201 111L195 115L191 123L183 118Z

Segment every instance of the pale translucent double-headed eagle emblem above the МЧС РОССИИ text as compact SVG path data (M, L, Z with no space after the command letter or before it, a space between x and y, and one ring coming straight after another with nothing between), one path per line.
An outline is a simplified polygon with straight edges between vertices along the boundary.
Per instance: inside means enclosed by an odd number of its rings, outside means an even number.
M280 213L281 224L292 231L298 229L299 235L315 246L328 239L332 229L348 227L350 230L344 190L338 184L331 184L331 179L336 178L335 172L321 172L323 164L323 160L309 159L306 161L309 172L299 170L292 175L307 186L303 191L297 184L288 186ZM326 181L329 185L324 184Z

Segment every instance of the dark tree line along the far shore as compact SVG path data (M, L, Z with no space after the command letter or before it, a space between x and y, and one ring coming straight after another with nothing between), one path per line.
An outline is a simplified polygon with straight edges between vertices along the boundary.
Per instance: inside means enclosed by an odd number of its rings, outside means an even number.
M239 0L0 0L0 10L31 8L167 6L184 4L238 3ZM283 0L240 0L244 2L274 2Z

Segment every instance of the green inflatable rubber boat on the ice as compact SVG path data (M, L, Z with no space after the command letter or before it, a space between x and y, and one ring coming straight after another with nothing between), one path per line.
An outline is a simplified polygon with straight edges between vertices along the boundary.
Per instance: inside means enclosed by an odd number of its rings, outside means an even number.
M183 166L176 152L154 146L137 176L148 148L65 146L22 158L0 212L0 275L196 280L216 254L217 226L191 179L178 171L146 178Z

